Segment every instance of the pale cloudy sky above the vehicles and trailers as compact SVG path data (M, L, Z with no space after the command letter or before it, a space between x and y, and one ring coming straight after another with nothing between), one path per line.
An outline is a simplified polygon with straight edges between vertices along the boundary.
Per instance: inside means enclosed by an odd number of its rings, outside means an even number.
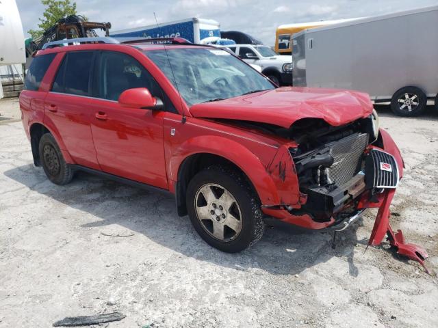
M26 31L38 27L44 6L39 0L16 0ZM76 0L78 14L110 22L111 31L198 17L214 19L222 31L244 31L274 45L281 24L376 16L438 5L438 0ZM28 35L26 35L28 37Z

